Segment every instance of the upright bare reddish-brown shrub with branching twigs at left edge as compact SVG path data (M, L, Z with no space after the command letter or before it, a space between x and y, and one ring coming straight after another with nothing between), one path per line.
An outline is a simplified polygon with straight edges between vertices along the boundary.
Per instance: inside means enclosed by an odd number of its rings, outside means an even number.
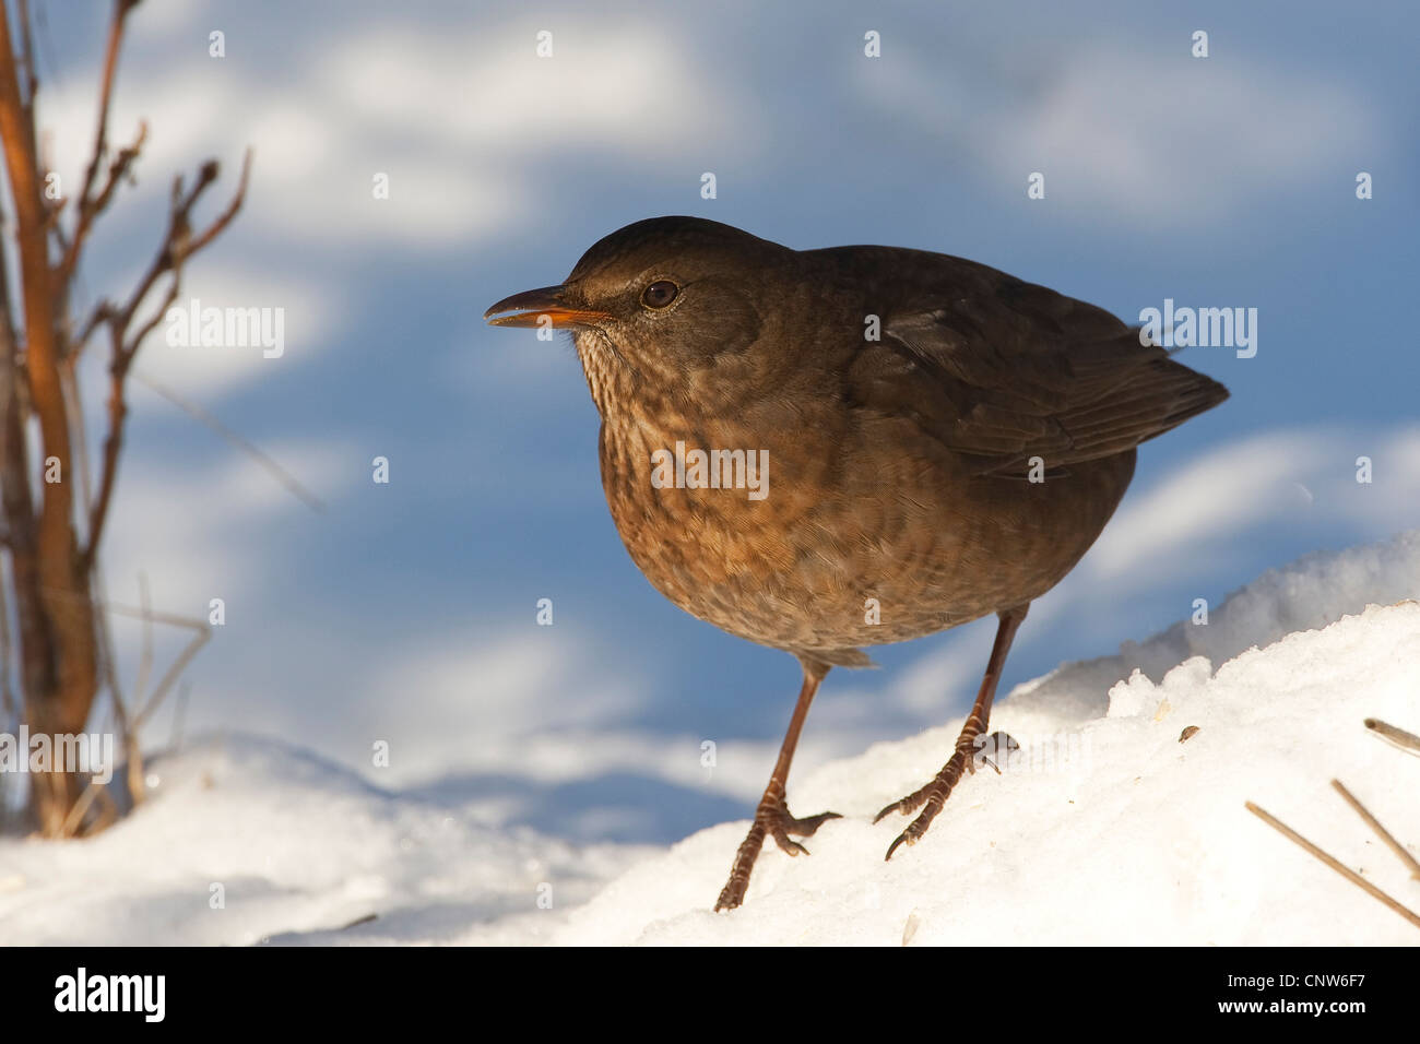
M106 680L115 722L129 753L129 785L135 800L142 797L143 788L138 750L141 726L179 682L209 641L210 631L203 621L152 612L145 578L138 611L143 619L138 706L125 703L116 678L111 621L98 612L106 604L98 548L124 443L126 379L145 338L178 300L186 260L216 240L243 206L251 168L247 152L233 197L206 226L195 226L193 212L217 180L217 163L203 163L187 187L176 179L168 227L136 287L126 297L101 298L75 328L78 317L72 315L71 297L81 286L80 271L92 232L116 202L121 186L132 180L148 136L148 125L139 122L131 143L115 149L109 142L126 17L138 3L112 0L92 151L77 192L53 193L61 196L55 200L45 196L47 173L53 169L50 141L43 141L41 151L36 128L40 91L36 43L45 41L43 33L36 40L31 16L41 16L37 26L43 30L44 10L37 6L31 11L30 0L0 0L0 158L13 202L14 226L6 232L13 234L18 257L18 271L7 273L7 256L0 251L0 548L10 567L9 575L0 570L0 585L6 585L0 589L4 599L0 601L0 658L4 660L0 705L13 707L18 695L28 722L51 732L75 732L91 714L101 679ZM4 217L0 213L0 223ZM160 307L156 315L149 315L146 310L155 304ZM75 365L99 330L106 331L111 349L108 430L101 470L91 474ZM31 430L37 430L38 437L31 436ZM36 442L38 445L33 445ZM58 462L65 472L64 482L31 489L36 452L41 460ZM70 477L75 467L81 483ZM95 477L98 482L91 482ZM87 527L81 527L81 521L87 521ZM151 678L156 673L153 622L192 626L197 634L149 693ZM14 638L18 639L18 658L10 655ZM20 665L17 670L11 669L14 662ZM20 686L11 695L14 673ZM139 774L136 784L135 773ZM101 787L82 790L82 784L67 773L37 776L31 788L33 807L45 834L72 835L114 818L112 795Z

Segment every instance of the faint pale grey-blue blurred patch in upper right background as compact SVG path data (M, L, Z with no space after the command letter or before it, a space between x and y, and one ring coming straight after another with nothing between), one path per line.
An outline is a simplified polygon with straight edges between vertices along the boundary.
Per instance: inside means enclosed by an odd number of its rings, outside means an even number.
M1172 61L1115 41L1062 45L1005 81L906 51L882 64L859 87L890 118L916 121L1022 199L1027 175L1042 172L1047 199L1089 219L1197 224L1384 148L1356 88L1260 58Z

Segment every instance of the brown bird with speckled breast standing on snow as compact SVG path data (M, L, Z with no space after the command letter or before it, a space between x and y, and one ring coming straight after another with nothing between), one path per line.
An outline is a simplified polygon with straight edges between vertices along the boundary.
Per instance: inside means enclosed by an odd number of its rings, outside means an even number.
M824 678L865 646L995 616L941 770L883 808L926 834L988 726L1032 601L1119 506L1136 447L1228 392L1109 311L961 257L794 250L700 217L639 220L497 327L571 331L601 416L602 487L632 561L674 605L791 653L802 683L716 909L768 838L790 855L836 812L785 788Z

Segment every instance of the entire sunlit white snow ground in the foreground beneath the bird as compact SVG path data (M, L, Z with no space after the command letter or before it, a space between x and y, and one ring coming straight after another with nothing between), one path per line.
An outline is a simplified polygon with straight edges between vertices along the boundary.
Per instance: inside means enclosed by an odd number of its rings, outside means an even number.
M669 849L578 845L437 788L210 739L155 758L153 798L97 838L0 841L0 945L1416 945L1242 803L1420 909L1420 881L1329 785L1420 852L1420 757L1362 726L1420 732L1417 594L1413 531L1302 558L1206 626L1018 686L991 722L1022 744L1014 763L964 780L892 862L907 820L872 815L940 767L961 722L802 771L795 814L846 818L811 857L765 848L731 913L710 906L746 821Z

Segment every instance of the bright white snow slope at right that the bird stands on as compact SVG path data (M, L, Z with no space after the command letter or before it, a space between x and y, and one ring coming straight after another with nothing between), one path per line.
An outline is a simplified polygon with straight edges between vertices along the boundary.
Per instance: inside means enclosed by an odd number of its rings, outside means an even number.
M1403 601L1416 594L1420 533L1306 557L1230 597L1207 626L1020 686L993 727L1034 764L968 777L892 862L906 820L872 815L936 773L960 720L791 781L795 814L846 818L808 841L811 857L767 848L741 909L710 910L747 828L734 822L638 865L552 939L1414 945L1413 926L1242 803L1420 909L1420 882L1329 785L1340 778L1420 851L1420 758L1362 726L1420 732L1420 605ZM1146 673L1120 682L1132 665Z

